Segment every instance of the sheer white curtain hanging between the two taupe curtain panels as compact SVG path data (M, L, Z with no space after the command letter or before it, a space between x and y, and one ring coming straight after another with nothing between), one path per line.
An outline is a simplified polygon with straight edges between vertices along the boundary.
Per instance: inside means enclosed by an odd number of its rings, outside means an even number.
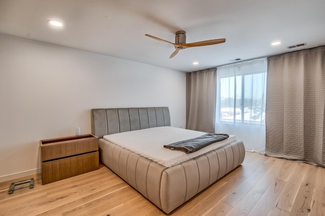
M265 152L267 59L217 68L215 133L236 135L248 151Z

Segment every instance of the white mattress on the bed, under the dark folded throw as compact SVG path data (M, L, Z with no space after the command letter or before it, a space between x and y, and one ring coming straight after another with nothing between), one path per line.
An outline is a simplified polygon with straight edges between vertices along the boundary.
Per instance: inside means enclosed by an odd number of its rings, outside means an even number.
M200 137L204 134L206 133L163 126L106 135L103 139L166 167L177 165L236 140L236 136L230 135L226 140L213 143L199 151L189 154L164 148L164 145Z

